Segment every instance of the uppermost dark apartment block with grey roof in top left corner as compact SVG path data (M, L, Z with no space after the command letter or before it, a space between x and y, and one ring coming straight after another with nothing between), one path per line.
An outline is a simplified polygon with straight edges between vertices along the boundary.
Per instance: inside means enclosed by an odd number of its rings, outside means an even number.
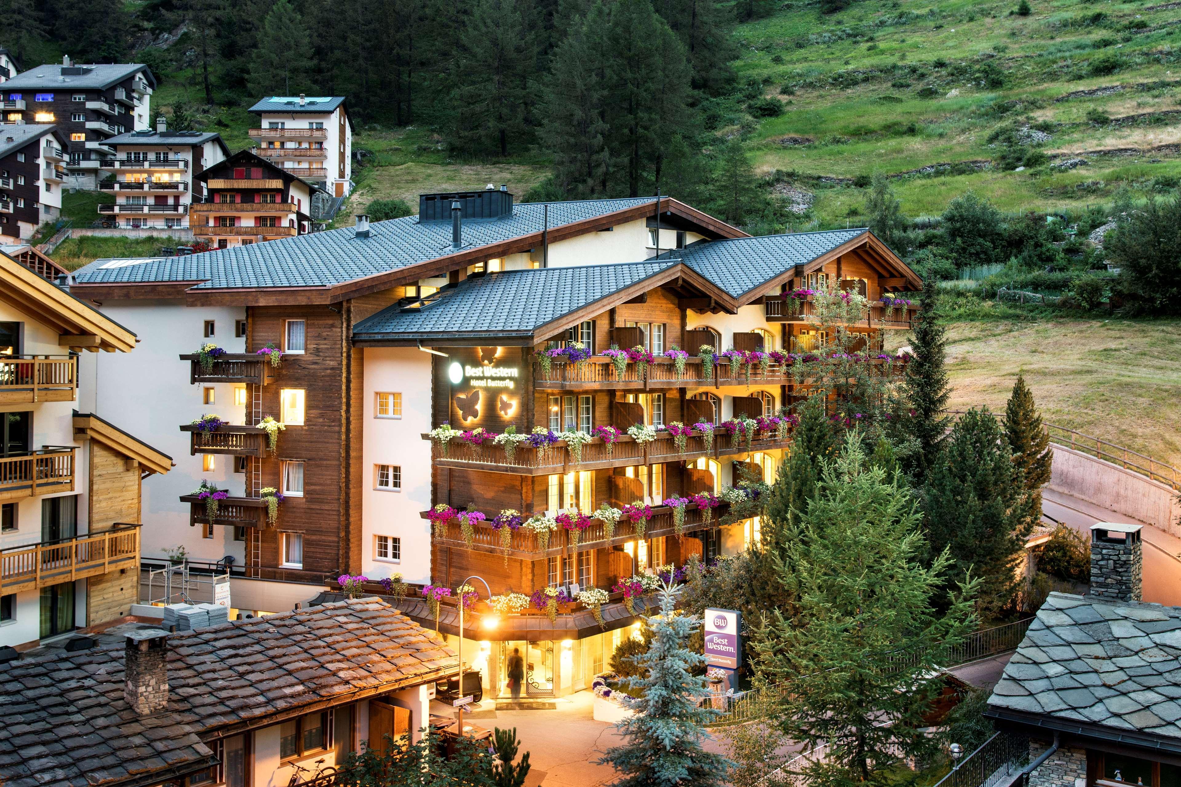
M41 65L4 84L6 124L50 124L66 139L70 185L94 189L103 159L115 156L109 140L151 125L156 78L143 64Z

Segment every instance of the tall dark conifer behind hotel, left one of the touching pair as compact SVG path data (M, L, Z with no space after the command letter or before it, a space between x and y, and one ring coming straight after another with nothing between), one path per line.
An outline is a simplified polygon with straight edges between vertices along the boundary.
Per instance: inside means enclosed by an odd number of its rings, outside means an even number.
M542 99L541 138L554 153L556 186L570 197L605 195L611 173L607 149L607 59L611 13L595 1L554 51Z

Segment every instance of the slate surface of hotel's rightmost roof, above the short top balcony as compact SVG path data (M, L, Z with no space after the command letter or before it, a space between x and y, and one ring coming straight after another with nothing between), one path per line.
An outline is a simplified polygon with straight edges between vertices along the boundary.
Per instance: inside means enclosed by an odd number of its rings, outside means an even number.
M738 297L795 265L803 265L862 235L864 229L722 238L674 249L660 258L680 257L685 264Z

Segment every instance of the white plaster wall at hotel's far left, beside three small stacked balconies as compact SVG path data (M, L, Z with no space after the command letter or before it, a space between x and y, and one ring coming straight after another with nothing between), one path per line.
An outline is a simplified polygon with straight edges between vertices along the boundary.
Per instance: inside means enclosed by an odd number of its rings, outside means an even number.
M139 343L133 353L87 353L79 373L81 386L94 392L94 412L176 463L167 476L144 484L143 557L163 559L165 549L183 545L190 559L216 562L233 555L241 565L243 543L234 540L234 529L215 526L213 538L202 538L201 527L189 526L189 504L181 503L180 496L197 488L202 478L242 496L246 476L234 473L233 459L223 455L215 457L213 472L202 472L201 455L189 454L189 434L180 427L205 413L244 424L246 408L234 406L229 383L208 386L215 389L215 404L202 404L207 386L190 385L189 362L177 356L195 353L205 341L230 353L246 352L246 339L234 337L234 321L244 319L246 310L189 308L163 300L109 301L100 310L135 332ZM205 320L215 321L216 334L209 340L204 339Z

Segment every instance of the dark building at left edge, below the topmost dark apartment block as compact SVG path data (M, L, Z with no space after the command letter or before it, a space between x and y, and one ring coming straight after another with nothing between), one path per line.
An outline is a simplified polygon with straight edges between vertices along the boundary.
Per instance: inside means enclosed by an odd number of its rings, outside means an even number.
M61 215L64 144L52 125L0 126L0 243L30 238Z

